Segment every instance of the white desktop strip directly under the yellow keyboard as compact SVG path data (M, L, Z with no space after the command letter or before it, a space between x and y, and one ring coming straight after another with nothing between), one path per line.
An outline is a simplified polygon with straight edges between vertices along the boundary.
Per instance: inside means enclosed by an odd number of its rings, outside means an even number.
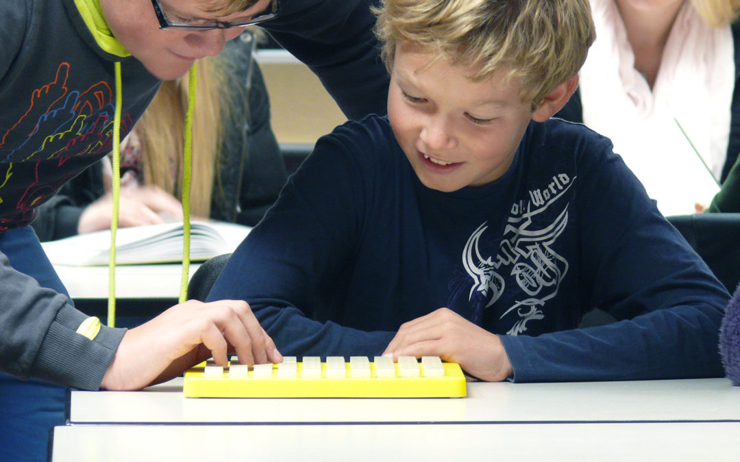
M725 378L512 384L465 398L184 398L182 379L139 392L73 391L72 424L740 422Z

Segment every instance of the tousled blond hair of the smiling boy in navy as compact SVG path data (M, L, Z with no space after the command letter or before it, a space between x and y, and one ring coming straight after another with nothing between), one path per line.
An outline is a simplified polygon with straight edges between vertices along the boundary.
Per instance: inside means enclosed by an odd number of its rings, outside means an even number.
M474 66L474 81L505 67L533 109L578 73L596 38L588 0L383 0L375 13L389 70L400 41Z

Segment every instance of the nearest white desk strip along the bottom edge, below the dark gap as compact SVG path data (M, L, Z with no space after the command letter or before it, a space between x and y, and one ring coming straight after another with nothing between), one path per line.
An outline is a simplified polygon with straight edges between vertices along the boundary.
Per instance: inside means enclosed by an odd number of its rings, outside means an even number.
M737 461L740 423L56 427L54 462Z

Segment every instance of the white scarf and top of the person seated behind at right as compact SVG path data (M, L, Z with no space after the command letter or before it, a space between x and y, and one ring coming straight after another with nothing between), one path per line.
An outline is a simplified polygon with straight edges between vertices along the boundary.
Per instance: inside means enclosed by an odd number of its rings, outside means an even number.
M652 91L614 0L591 0L596 41L579 73L584 123L614 143L665 215L690 214L719 190L735 85L730 27L686 1Z

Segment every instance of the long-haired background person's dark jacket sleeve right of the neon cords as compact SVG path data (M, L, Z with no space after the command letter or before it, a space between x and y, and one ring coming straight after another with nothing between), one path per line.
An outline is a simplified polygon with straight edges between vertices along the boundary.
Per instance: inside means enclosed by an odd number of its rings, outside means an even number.
M254 226L280 194L288 174L280 154L280 146L270 125L270 101L256 61L252 63L249 88L248 154L243 163L240 188L240 211L236 221Z

